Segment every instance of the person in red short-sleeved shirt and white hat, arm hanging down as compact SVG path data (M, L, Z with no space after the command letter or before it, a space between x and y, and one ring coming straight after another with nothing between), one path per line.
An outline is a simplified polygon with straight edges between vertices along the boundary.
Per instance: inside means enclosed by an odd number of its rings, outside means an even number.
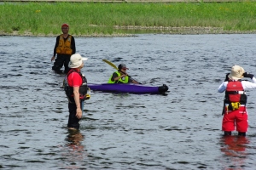
M79 121L82 118L84 99L89 99L87 96L87 80L82 75L81 69L84 67L84 60L80 54L73 54L69 61L70 71L64 80L64 88L68 99L69 118L67 127L70 129L79 129Z

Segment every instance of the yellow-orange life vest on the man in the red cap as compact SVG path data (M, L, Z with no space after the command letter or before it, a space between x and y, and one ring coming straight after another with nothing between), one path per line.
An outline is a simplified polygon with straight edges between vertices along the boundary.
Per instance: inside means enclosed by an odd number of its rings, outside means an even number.
M73 53L73 50L71 48L71 39L72 39L72 36L69 35L67 37L67 40L64 41L63 34L61 34L59 45L56 48L56 53L57 54L68 54L68 55L71 55Z

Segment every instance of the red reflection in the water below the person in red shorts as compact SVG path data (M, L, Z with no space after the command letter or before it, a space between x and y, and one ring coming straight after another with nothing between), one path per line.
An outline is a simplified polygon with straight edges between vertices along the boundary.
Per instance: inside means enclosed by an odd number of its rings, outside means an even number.
M243 136L224 136L220 140L220 143L224 144L220 148L224 153L224 169L244 169L248 156L249 139Z

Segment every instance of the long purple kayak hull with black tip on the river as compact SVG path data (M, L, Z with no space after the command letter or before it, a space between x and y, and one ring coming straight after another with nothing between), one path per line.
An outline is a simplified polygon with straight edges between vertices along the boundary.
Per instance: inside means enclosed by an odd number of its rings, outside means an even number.
M92 84L88 83L88 87L92 91L130 93L130 94L165 94L168 90L166 84L160 87L144 86L140 84Z

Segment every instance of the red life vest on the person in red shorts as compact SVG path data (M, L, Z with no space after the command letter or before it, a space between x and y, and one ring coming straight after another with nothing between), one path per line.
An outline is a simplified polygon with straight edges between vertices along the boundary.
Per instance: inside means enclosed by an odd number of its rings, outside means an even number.
M230 80L227 84L225 92L225 103L230 104L234 102L239 102L241 105L246 105L247 103L247 95L242 88L241 80Z

